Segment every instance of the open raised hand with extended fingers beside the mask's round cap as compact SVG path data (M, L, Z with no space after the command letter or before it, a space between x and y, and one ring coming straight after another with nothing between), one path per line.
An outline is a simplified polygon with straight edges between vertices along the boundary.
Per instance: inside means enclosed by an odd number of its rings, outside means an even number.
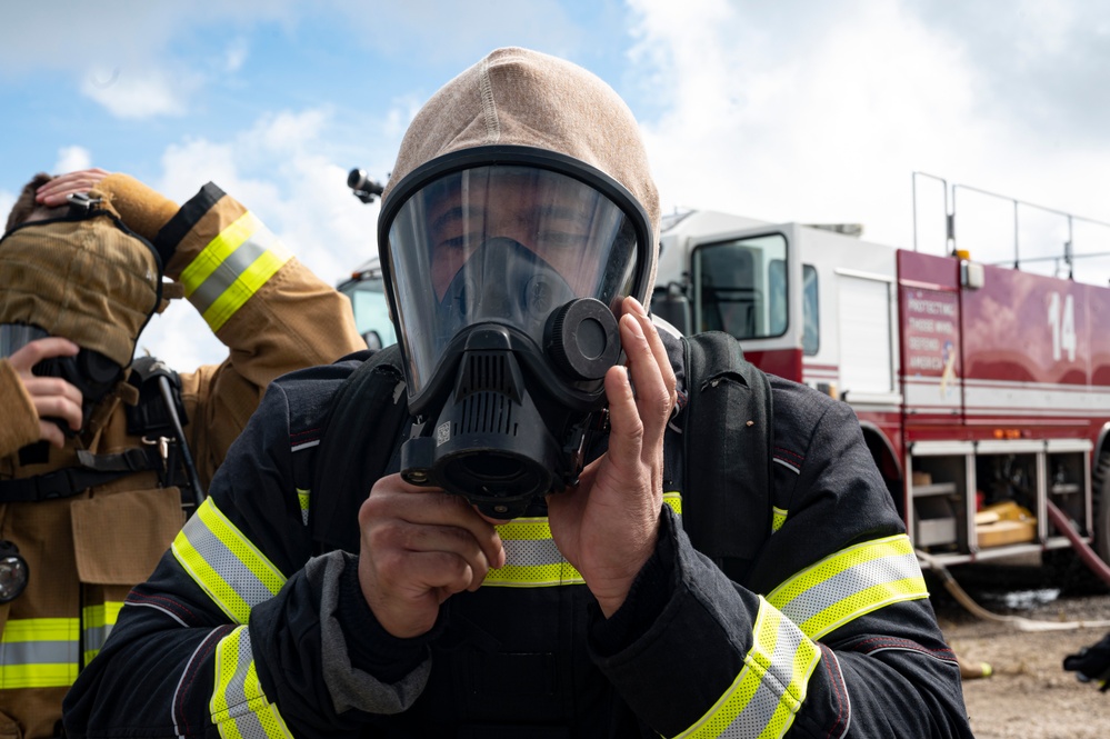
M606 375L609 451L587 466L577 488L548 497L556 545L606 617L624 602L659 537L663 433L677 398L674 370L647 311L634 298L622 310L628 368Z

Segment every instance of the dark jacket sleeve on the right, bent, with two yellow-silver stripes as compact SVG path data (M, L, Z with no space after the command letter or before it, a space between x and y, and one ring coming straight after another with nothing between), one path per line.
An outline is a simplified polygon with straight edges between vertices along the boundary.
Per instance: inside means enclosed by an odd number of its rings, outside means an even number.
M959 668L851 409L777 381L774 427L783 508L743 582L664 507L628 601L594 618L597 663L668 737L970 737Z

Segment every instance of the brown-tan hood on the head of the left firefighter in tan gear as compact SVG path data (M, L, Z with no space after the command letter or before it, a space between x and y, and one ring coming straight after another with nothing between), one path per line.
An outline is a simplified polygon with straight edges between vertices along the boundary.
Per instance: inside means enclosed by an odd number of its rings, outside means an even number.
M0 323L29 323L131 363L161 298L153 248L121 228L106 193L99 214L29 222L0 240Z

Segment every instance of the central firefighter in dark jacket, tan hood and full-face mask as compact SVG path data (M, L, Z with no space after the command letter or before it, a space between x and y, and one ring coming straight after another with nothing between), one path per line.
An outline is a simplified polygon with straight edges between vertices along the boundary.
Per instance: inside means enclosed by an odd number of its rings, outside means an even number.
M658 330L658 226L597 77L509 48L448 82L382 200L399 344L271 387L68 736L970 737L851 409ZM717 388L756 420L701 426Z

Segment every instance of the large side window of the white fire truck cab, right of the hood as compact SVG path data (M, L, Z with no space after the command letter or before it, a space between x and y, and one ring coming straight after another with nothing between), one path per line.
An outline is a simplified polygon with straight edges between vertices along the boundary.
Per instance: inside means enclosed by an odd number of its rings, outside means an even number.
M739 339L787 330L787 240L781 233L719 241L693 251L694 321L699 331Z

